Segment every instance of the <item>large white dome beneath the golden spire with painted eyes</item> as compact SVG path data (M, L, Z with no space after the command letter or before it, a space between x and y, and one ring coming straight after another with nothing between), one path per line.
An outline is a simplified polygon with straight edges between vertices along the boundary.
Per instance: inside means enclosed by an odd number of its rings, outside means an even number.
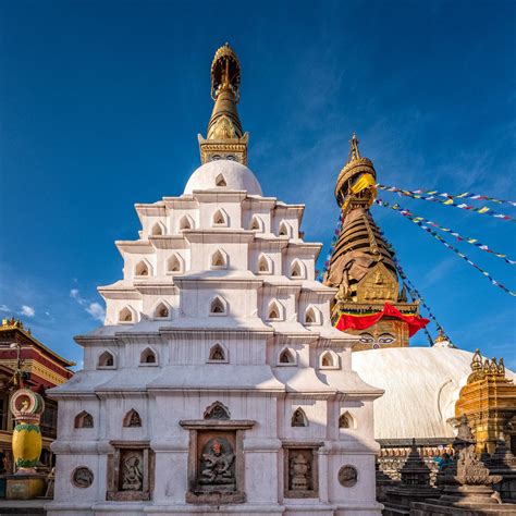
M459 390L472 353L450 347L390 347L355 352L352 369L385 390L374 401L374 439L453 438ZM507 378L514 378L506 371Z

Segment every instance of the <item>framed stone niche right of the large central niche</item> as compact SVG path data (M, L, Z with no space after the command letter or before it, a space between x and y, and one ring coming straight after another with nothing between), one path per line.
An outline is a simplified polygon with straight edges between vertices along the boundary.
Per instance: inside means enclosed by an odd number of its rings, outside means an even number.
M285 499L319 496L318 449L323 443L283 443Z

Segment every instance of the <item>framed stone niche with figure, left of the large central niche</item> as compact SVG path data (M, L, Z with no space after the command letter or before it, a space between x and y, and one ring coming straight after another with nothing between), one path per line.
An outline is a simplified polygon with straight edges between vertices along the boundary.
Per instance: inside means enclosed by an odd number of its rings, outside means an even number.
M150 500L153 490L155 456L148 441L111 441L108 455L106 500Z

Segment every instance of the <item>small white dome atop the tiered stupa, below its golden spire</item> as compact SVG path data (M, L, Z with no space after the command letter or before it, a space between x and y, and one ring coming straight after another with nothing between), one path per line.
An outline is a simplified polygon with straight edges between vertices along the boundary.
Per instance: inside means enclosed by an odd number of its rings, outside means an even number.
M225 186L218 186L218 182L223 177ZM231 160L209 161L199 167L186 183L184 194L191 195L198 189L212 188L246 191L249 195L262 195L261 186L255 174L242 163Z

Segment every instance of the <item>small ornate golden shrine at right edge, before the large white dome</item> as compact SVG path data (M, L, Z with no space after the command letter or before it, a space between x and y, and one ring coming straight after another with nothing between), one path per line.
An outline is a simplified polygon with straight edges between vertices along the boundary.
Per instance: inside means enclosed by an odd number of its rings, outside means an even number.
M471 373L455 404L455 417L466 415L477 441L477 452L492 454L501 439L514 449L516 440L516 385L505 376L503 358L483 359L479 349Z

